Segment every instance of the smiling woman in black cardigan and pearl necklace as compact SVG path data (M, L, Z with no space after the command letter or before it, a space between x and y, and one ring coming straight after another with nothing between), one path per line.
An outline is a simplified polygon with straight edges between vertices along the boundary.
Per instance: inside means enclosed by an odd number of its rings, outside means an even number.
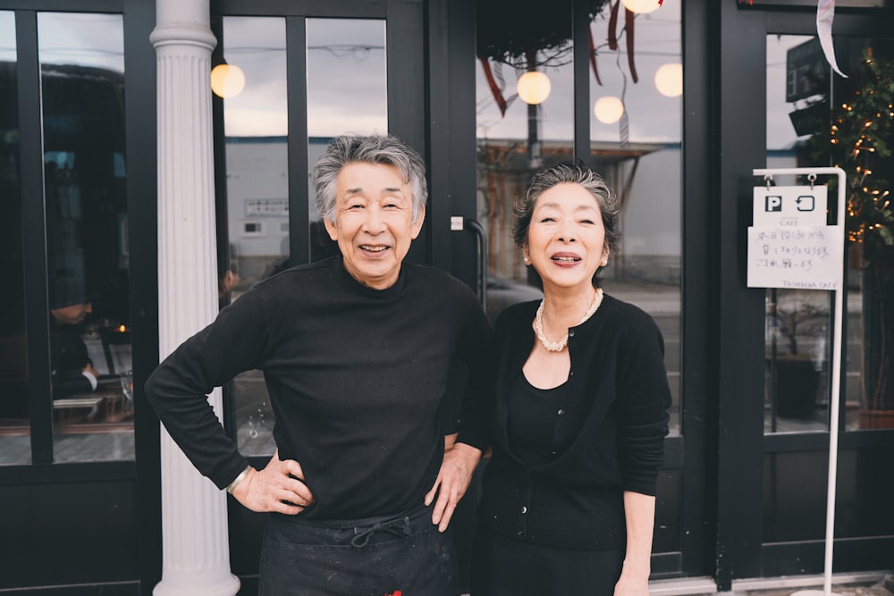
M538 172L516 206L544 299L496 323L473 596L648 593L671 392L652 317L598 284L616 226L578 164Z

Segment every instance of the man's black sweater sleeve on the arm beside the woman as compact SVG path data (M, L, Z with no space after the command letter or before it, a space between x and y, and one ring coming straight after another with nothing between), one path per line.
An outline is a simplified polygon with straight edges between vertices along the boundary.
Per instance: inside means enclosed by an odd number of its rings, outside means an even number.
M468 314L457 340L457 357L468 370L457 442L484 450L490 444L485 424L485 391L493 338L485 311L474 295L468 296Z

